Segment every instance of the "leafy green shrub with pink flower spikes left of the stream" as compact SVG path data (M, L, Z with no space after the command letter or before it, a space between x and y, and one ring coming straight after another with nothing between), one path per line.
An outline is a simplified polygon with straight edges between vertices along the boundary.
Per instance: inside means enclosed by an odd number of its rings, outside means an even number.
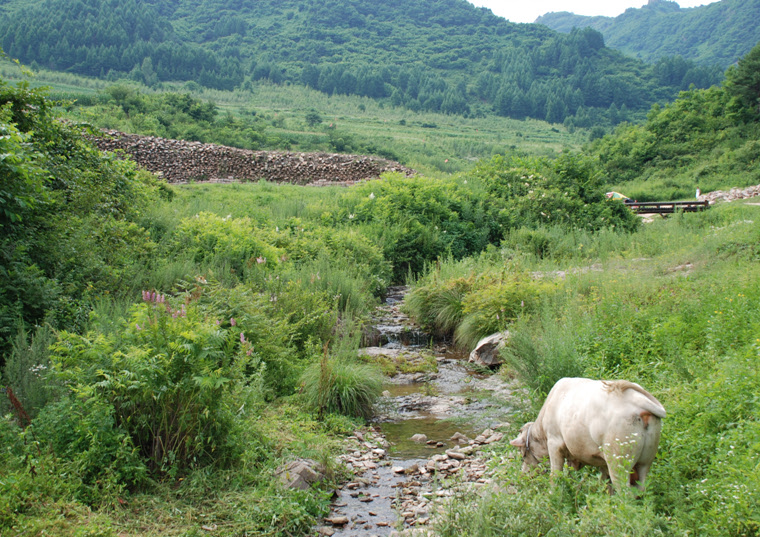
M108 434L123 431L159 475L234 457L231 394L260 374L260 359L244 334L209 323L192 305L170 307L155 293L132 309L123 330L120 337L61 335L53 363L73 402L56 415L65 420L79 408L97 410L98 426L113 431ZM50 434L64 449L73 442L61 431ZM74 434L81 436L76 428Z

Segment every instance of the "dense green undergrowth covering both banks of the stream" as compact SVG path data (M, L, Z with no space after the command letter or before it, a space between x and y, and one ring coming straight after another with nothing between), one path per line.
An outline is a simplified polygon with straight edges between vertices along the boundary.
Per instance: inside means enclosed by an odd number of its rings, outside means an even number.
M748 73L726 94L743 135ZM604 161L569 152L347 189L171 188L43 92L0 97L3 534L308 534L380 389L362 324L403 281L464 347L510 330L519 418L568 375L639 381L669 412L642 499L592 473L547 487L497 449L514 488L452 504L442 534L757 533L756 207L642 226L605 199ZM297 457L325 483L273 479Z

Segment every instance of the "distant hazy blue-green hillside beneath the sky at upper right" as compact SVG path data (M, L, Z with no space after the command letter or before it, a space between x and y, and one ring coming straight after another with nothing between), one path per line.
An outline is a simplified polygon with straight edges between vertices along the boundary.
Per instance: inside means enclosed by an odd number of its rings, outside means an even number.
M617 17L586 17L566 11L547 13L536 20L560 32L593 28L608 47L647 62L680 56L699 65L722 69L735 63L760 41L760 1L721 0L706 6L681 8L669 0L650 0ZM679 60L678 71L690 67ZM672 67L671 67L672 69Z

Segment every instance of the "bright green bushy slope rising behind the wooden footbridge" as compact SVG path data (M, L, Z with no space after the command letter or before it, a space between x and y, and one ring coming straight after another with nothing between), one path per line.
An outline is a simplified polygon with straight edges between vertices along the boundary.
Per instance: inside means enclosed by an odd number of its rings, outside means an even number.
M684 92L641 125L593 143L610 183L639 200L691 197L760 183L760 45L723 87Z

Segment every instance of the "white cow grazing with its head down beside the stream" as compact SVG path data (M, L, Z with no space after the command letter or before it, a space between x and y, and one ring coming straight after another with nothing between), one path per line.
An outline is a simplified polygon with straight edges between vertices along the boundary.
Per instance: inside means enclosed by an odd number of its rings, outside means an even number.
M576 469L600 467L616 489L643 490L664 417L665 408L635 382L563 378L510 444L520 448L523 470L548 456L552 473L567 460Z

